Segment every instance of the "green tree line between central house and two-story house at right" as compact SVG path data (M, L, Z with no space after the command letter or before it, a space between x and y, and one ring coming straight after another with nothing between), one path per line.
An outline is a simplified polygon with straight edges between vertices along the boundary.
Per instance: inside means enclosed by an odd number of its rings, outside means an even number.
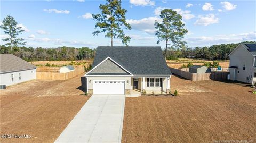
M256 43L256 41L243 41L241 43ZM167 51L167 59L177 60L178 58L202 58L206 60L228 60L229 54L240 43L212 45L209 47L194 48L172 48Z

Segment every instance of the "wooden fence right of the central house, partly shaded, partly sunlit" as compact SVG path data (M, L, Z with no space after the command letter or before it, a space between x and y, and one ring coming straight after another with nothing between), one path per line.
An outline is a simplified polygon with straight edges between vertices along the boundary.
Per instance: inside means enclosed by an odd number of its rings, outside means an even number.
M211 73L190 73L174 68L170 68L173 74L179 75L180 77L192 80L227 80L229 72L211 72Z

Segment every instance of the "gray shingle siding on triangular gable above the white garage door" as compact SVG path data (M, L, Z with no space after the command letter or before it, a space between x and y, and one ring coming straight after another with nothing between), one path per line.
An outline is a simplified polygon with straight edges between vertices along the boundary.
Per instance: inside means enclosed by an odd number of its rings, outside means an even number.
M126 73L126 71L124 71L117 64L108 59L105 62L101 63L91 73Z

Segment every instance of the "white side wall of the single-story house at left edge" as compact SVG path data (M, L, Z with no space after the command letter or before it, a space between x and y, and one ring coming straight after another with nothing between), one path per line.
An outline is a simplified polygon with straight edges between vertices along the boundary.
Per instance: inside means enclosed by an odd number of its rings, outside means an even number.
M31 71L33 71L33 73L31 73ZM21 73L21 79L19 79L19 73ZM14 78L13 81L12 74ZM36 79L36 69L3 73L0 74L0 85L10 86L33 79Z

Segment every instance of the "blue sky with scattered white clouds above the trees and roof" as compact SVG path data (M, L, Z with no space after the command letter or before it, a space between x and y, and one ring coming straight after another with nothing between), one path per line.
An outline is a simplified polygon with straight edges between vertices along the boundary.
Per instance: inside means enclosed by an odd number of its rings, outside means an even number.
M32 47L72 46L95 48L110 45L104 34L93 36L95 21L91 14L99 13L105 1L3 1L1 18L11 15L25 32L19 37ZM129 46L161 46L156 44L154 22L159 13L170 8L182 15L189 47L210 46L256 40L256 1L153 1L127 0L122 6L128 11L127 22L132 30ZM0 38L6 37L1 29ZM1 44L4 44L1 40ZM114 46L122 46L115 39Z

